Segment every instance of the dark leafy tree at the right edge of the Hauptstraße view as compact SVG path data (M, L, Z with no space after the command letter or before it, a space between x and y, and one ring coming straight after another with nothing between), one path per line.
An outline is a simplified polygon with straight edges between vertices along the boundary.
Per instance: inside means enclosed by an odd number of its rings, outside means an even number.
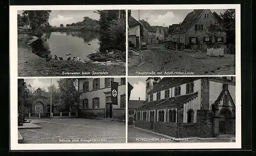
M226 33L227 43L236 42L236 11L234 9L227 9L220 14L222 18L222 29Z

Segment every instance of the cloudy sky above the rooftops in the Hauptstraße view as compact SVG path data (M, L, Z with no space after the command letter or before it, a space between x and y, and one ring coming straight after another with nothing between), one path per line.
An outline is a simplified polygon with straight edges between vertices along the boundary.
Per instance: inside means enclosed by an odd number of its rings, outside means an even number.
M140 14L140 20L144 19L147 21L150 25L158 25L168 27L172 24L178 24L183 21L183 19L186 17L186 15L193 10L132 10L132 16L139 20L139 14ZM211 10L211 12L216 12L220 15L221 12L224 12L223 9L219 10Z

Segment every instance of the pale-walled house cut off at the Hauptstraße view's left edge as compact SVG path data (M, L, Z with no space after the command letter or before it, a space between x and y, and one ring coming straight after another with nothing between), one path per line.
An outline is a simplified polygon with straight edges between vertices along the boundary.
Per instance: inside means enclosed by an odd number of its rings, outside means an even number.
M133 16L129 17L128 19L128 32L129 32L129 42L131 42L135 47L139 48L140 46L140 33L141 31L141 23L138 22ZM142 38L143 39L143 38Z

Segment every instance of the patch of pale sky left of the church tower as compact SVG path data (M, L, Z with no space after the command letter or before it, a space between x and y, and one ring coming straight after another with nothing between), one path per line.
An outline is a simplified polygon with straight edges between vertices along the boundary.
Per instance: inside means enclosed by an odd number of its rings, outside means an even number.
M128 82L133 86L131 100L145 100L147 77L129 77Z

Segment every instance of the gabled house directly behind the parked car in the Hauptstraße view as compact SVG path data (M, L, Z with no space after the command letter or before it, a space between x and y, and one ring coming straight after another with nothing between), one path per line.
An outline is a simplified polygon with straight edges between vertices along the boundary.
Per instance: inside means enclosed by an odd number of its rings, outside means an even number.
M143 42L147 42L149 45L156 44L156 32L151 27L150 23L144 19L139 20L139 22L143 25Z

